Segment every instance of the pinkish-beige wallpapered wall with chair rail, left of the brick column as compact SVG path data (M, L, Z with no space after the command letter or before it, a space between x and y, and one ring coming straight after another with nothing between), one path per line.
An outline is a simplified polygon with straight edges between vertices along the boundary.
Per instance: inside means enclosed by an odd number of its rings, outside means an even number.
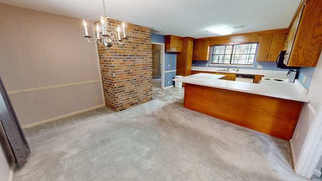
M0 75L21 125L104 105L83 20L4 4L0 17Z

